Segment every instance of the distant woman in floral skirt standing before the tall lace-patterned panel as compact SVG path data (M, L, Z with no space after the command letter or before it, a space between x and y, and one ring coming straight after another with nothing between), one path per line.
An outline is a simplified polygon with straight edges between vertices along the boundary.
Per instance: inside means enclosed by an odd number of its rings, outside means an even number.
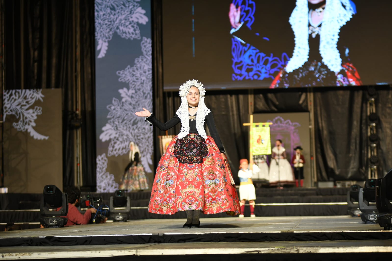
M119 189L139 191L148 189L148 180L140 162L140 151L136 144L129 143L129 164L125 167Z

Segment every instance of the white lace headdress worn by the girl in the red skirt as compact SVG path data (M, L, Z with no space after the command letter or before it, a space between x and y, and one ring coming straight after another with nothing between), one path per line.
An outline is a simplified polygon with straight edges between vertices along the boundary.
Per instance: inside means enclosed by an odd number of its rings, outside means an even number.
M198 82L197 80L189 80L183 85L180 86L180 97L181 97L181 105L178 108L176 114L181 120L181 131L178 134L178 139L182 139L186 135L189 134L189 110L188 110L188 101L187 95L189 93L189 89L195 86L199 89L199 105L196 115L196 130L198 131L199 135L204 139L207 138L207 133L205 133L204 129L204 121L207 114L210 112L210 109L205 106L204 103L204 96L205 96L205 88L203 85Z

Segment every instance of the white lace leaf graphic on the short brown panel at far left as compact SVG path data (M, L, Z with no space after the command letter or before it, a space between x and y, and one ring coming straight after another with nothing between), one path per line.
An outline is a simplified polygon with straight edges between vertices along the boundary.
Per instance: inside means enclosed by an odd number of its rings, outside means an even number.
M37 101L44 101L41 89L37 90L5 90L3 94L3 121L7 115L15 115L18 122L13 122L12 126L18 131L27 131L36 140L47 140L49 136L42 135L34 130L37 115L42 114L42 107L34 106Z

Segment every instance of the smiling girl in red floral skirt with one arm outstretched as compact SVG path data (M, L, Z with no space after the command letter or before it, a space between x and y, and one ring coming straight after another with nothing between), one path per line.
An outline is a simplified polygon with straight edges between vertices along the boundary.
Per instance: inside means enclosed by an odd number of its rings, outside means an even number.
M239 214L240 205L225 151L212 112L204 103L205 88L196 80L180 86L181 105L176 115L162 123L148 110L136 112L160 130L181 122L156 168L149 212L174 214L186 211L184 228L200 226L204 214ZM205 132L207 124L211 136ZM233 182L234 183L234 182Z

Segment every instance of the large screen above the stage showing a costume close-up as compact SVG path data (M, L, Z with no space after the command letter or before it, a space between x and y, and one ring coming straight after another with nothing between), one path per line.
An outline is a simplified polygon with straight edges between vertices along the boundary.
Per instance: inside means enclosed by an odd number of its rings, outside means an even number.
M164 90L392 83L392 1L310 2L163 1Z

